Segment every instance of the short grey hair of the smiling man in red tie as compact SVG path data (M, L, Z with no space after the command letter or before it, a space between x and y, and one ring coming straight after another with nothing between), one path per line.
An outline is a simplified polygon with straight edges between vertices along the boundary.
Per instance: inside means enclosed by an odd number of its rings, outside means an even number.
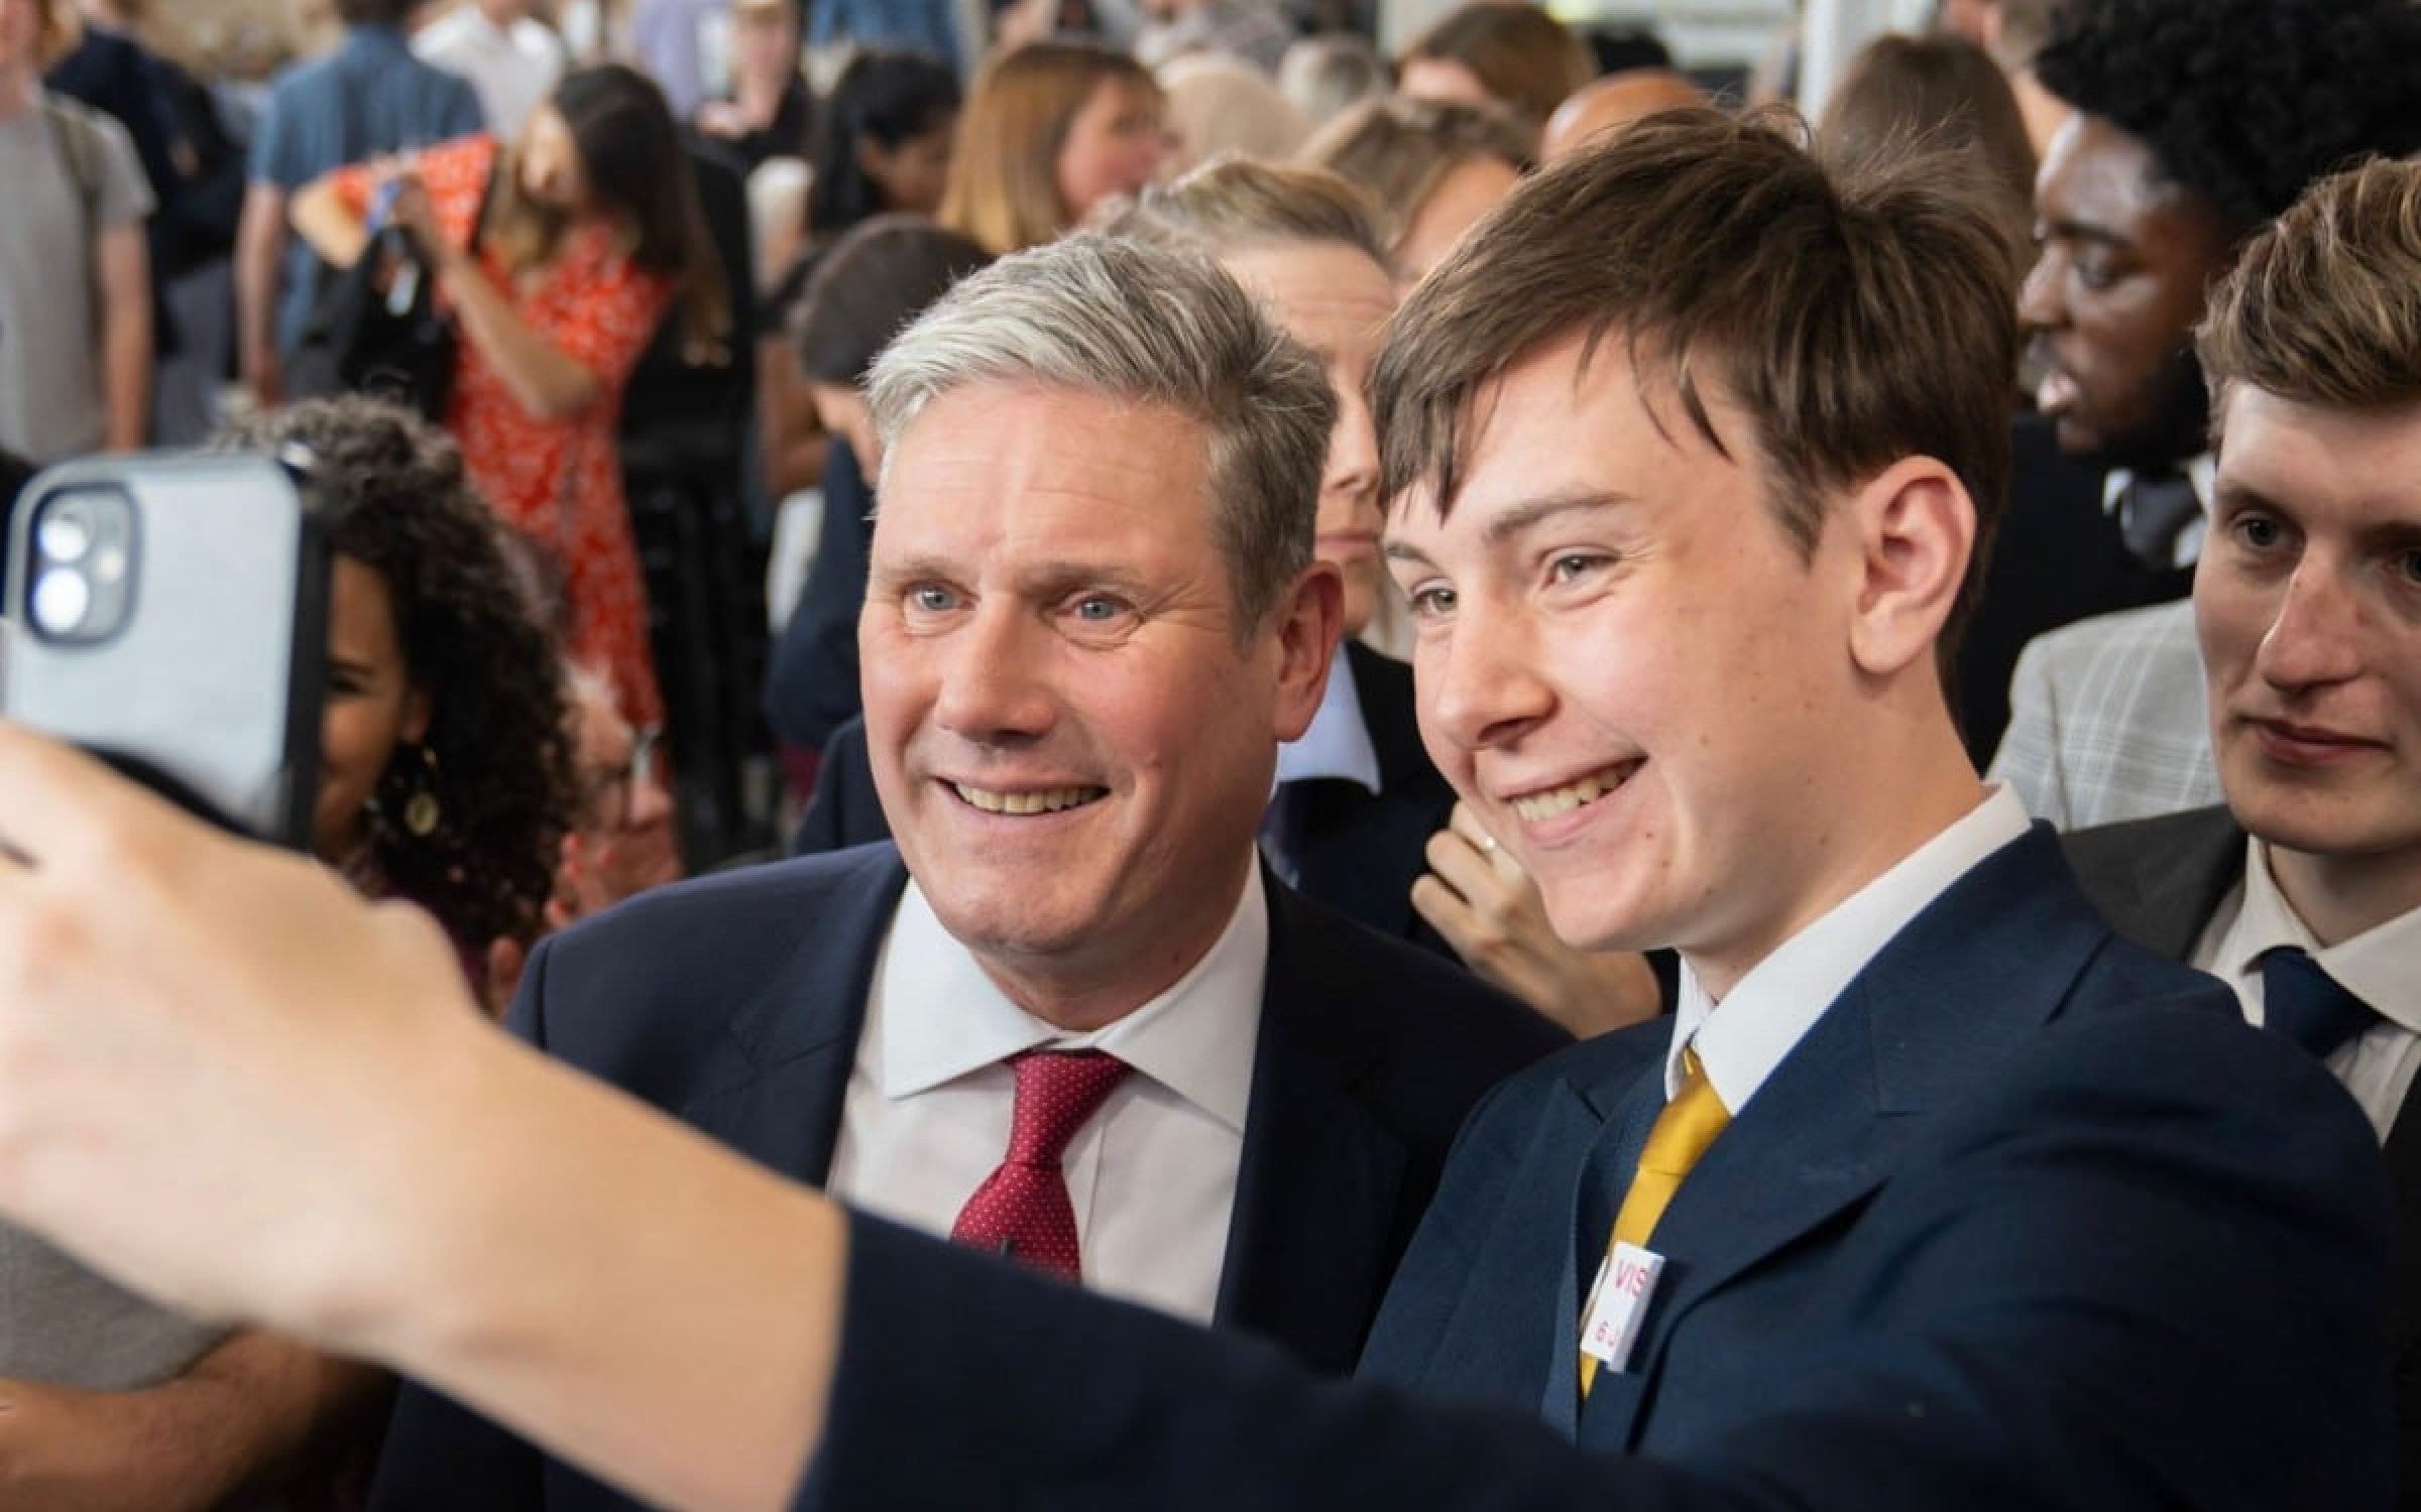
M876 498L925 404L983 382L1157 404L1201 423L1210 539L1227 564L1240 639L1310 566L1336 397L1319 360L1206 254L1060 237L935 300L867 377L884 445Z

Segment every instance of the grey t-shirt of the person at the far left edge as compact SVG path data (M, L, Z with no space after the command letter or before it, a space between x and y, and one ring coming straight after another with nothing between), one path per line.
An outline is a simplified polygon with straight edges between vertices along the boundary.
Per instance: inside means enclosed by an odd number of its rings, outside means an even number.
M143 220L153 196L133 140L99 111L87 119L102 148L92 227ZM34 462L99 450L109 409L85 191L39 104L0 119L0 448Z

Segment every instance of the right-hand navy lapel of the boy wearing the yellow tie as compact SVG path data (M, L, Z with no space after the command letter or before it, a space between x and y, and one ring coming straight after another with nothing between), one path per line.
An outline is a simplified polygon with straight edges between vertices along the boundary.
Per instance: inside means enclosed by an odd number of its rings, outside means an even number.
M1690 1311L1884 1185L1922 1135L1922 1113L2053 1018L2101 939L2065 883L2058 842L2036 825L1886 943L1666 1207L1654 1239L1666 1270L1632 1369L1598 1377L1581 1439L1634 1447Z

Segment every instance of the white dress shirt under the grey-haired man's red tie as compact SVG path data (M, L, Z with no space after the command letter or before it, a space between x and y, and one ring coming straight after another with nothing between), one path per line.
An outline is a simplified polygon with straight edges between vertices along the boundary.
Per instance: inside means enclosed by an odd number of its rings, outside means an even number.
M1092 1033L1063 1033L993 985L910 881L874 963L867 1026L826 1188L949 1234L1010 1149L1019 1050L1104 1050L1133 1074L1068 1142L1085 1285L1208 1323L1227 1263L1269 907L1244 868L1227 929L1174 987Z

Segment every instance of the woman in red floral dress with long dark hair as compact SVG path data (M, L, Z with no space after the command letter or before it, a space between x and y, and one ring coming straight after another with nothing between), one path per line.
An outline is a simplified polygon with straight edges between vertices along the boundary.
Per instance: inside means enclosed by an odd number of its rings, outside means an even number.
M571 73L513 145L337 169L295 196L295 230L349 266L385 184L460 329L448 428L472 481L562 566L574 658L613 677L632 723L661 721L615 428L671 307L697 344L729 324L663 94L620 65Z

